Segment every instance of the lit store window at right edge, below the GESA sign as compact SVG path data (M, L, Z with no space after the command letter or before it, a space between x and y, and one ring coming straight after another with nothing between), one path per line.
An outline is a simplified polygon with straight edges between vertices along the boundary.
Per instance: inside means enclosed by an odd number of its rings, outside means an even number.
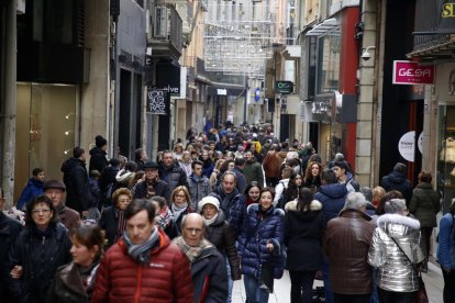
M441 105L439 113L437 190L446 213L455 198L455 105Z

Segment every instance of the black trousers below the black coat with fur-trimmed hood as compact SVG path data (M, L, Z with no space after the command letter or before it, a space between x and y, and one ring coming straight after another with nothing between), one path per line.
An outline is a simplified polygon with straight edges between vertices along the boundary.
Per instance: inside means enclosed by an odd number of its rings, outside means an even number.
M311 302L315 271L289 271L291 303Z

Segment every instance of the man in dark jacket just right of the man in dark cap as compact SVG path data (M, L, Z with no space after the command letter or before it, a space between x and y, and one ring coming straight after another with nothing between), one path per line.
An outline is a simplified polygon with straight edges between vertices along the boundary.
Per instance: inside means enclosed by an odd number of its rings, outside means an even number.
M187 173L181 169L178 162L174 159L173 152L166 150L163 153L163 159L159 162L159 178L169 184L170 192L177 187L187 187Z

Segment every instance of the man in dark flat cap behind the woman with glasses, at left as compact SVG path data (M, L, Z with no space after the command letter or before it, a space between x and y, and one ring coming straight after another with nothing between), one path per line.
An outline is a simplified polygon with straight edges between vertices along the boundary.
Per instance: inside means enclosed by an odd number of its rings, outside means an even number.
M66 187L58 180L48 180L43 184L44 194L52 200L54 209L58 213L58 218L66 228L78 227L80 225L80 215L73 209L65 205Z

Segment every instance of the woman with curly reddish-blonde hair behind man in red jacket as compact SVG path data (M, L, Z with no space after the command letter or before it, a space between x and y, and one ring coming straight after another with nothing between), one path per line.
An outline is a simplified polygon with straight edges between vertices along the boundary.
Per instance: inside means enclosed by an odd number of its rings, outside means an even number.
M114 245L122 236L126 227L124 211L130 204L133 195L126 188L120 188L112 194L112 206L106 207L101 213L98 225L106 231L108 247Z

